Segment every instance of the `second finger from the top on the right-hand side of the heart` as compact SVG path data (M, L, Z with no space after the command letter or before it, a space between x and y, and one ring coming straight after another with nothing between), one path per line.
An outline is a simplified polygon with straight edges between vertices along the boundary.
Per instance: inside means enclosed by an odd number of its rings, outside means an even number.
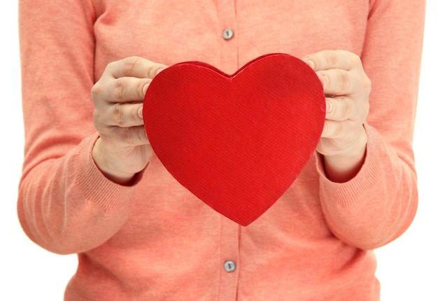
M347 95L356 90L357 83L350 71L330 69L317 71L316 74L323 85L325 94Z

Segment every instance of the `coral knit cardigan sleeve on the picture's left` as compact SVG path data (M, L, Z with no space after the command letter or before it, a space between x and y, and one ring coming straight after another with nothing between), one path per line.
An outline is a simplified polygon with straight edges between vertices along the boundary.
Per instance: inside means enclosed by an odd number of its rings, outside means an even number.
M20 0L25 150L17 213L36 244L80 253L127 220L132 188L94 165L94 8L87 0Z

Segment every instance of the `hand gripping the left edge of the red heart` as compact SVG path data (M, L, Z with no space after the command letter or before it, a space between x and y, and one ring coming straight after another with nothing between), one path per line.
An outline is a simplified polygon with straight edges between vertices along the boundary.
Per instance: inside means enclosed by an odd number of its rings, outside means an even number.
M143 126L143 99L151 80L166 68L141 57L128 57L106 66L92 87L94 126L99 139L92 156L108 179L129 183L152 154Z

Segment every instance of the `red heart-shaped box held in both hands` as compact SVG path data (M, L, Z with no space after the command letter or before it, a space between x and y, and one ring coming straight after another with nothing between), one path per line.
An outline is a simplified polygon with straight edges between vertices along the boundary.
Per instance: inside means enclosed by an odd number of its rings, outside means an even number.
M170 174L220 214L249 225L315 151L325 96L316 73L290 55L258 57L232 75L183 62L150 83L143 119Z

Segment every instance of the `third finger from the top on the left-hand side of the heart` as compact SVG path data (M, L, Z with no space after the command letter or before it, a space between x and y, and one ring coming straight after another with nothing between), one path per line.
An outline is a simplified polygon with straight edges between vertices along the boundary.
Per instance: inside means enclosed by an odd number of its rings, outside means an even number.
M143 125L143 104L114 104L104 118L102 121L107 126L136 127Z

